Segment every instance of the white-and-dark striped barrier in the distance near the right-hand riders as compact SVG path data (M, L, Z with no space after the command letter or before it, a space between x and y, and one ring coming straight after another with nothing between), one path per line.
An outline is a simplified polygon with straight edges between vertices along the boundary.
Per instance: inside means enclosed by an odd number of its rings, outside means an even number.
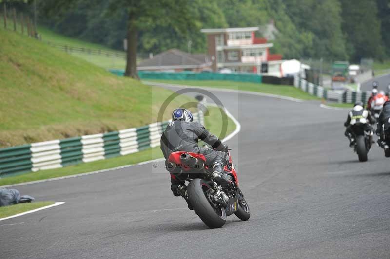
M369 91L356 92L351 90L329 90L297 76L294 78L294 86L309 93L310 95L339 103L355 103L357 101L366 103L370 97Z

